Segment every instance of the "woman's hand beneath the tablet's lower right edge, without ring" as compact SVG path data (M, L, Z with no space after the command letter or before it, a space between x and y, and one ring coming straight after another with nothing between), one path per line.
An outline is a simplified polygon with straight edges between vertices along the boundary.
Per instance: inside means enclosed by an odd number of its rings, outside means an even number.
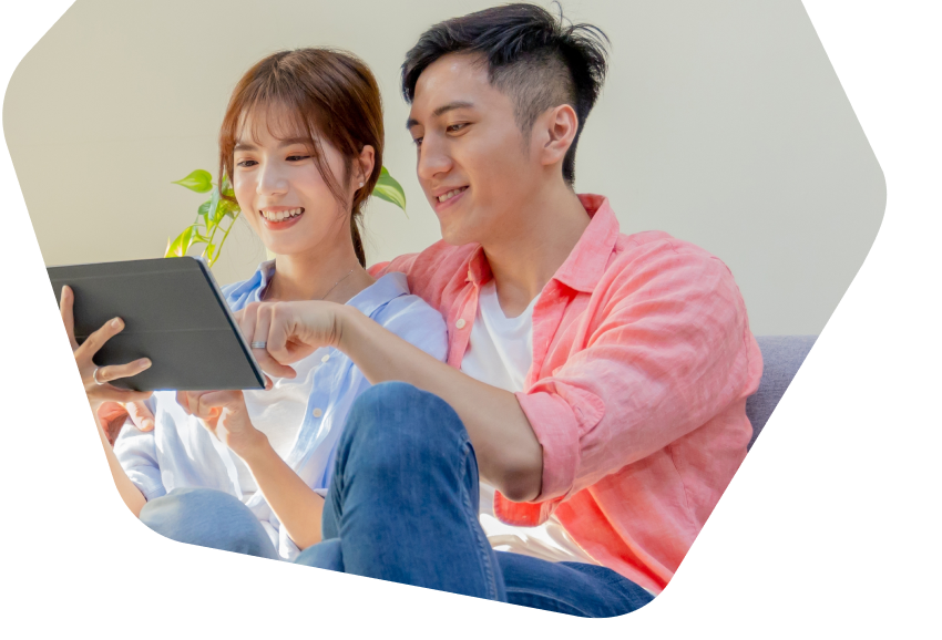
M248 419L242 391L177 391L176 402L246 462L253 452L268 443Z

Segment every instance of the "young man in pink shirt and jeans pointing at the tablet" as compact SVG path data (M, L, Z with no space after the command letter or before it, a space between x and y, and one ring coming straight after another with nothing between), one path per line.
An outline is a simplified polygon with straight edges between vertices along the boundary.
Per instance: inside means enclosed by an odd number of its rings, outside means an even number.
M618 616L666 587L745 458L761 357L729 270L666 234L620 234L605 197L573 190L598 33L511 4L437 24L407 55L442 241L372 272L407 273L442 312L448 364L338 304L242 316L269 373L329 344L376 384L337 452L326 541L299 562ZM550 535L492 550L479 473L496 518ZM574 561L533 557L547 546Z

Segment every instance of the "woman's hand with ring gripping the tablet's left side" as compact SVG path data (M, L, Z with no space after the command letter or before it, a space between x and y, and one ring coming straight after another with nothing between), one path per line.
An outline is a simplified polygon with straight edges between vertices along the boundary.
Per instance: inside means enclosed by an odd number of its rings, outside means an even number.
M85 398L89 401L92 415L98 416L99 409L105 402L136 402L150 398L151 392L149 391L131 391L117 389L109 384L112 380L130 378L149 369L151 361L146 358L135 360L129 364L101 368L96 367L92 360L105 342L124 329L124 322L121 318L115 318L107 322L79 345L75 341L75 320L72 314L73 304L74 295L72 293L72 289L70 287L63 287L59 313L62 317L62 324L65 327L65 334L69 337L69 345L72 348L72 357L75 359L75 367L79 369L82 386L85 388Z

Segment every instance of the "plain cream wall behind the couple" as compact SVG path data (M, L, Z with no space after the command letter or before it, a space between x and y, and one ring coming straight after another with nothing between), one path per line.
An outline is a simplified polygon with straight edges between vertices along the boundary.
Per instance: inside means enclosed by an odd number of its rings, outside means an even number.
M382 90L385 164L406 189L409 217L379 200L368 207L368 262L421 250L440 235L416 179L399 66L431 24L496 4L76 1L3 96L3 136L43 262L162 256L205 199L171 182L195 168L215 175L235 82L264 55L310 45L356 53ZM754 333L820 333L877 238L887 183L805 7L562 7L612 40L576 190L606 195L623 233L662 229L721 258ZM244 279L264 258L240 221L216 278Z

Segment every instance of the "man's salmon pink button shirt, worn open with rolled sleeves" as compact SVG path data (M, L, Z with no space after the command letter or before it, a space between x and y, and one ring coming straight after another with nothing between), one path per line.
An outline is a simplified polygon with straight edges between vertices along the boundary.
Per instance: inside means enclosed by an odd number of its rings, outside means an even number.
M494 513L518 526L554 514L590 556L659 593L746 457L762 359L726 265L665 233L621 234L606 198L578 197L592 219L536 301L515 394L543 446L542 491L498 494ZM492 278L480 245L439 241L370 269L389 271L444 316L460 369Z

